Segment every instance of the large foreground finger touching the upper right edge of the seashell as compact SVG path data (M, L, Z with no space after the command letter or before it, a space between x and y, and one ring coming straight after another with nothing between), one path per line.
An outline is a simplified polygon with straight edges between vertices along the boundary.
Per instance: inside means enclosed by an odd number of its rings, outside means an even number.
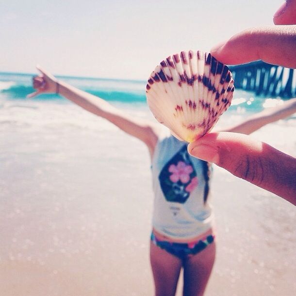
M211 49L221 63L266 63L296 68L296 25L251 28L232 36Z

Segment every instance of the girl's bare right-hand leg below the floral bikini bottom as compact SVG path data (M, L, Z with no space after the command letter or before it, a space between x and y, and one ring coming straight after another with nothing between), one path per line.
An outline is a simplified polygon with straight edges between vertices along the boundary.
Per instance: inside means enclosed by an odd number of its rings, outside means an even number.
M215 242L184 262L183 296L202 296L210 278L216 254Z

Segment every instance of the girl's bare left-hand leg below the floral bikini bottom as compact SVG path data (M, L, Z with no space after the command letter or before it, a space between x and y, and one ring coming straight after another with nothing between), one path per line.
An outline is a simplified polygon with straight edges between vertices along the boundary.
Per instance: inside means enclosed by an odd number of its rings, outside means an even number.
M155 296L174 296L182 261L151 242L150 262L155 284Z

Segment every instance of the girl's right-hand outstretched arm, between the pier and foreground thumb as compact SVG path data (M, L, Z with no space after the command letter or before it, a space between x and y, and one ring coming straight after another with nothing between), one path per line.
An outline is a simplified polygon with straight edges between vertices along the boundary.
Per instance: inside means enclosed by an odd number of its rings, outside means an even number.
M262 128L264 125L283 119L296 113L296 98L285 101L281 106L268 108L260 113L250 116L246 121L235 125L223 132L239 132L250 134Z

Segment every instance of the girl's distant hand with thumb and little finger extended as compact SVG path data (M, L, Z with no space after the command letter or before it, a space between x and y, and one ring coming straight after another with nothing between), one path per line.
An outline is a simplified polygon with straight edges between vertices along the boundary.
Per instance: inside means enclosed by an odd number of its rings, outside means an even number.
M33 88L35 88L36 91L28 95L27 98L33 98L40 94L57 93L57 79L50 73L43 70L40 66L36 66L36 68L41 72L41 75L33 77Z

